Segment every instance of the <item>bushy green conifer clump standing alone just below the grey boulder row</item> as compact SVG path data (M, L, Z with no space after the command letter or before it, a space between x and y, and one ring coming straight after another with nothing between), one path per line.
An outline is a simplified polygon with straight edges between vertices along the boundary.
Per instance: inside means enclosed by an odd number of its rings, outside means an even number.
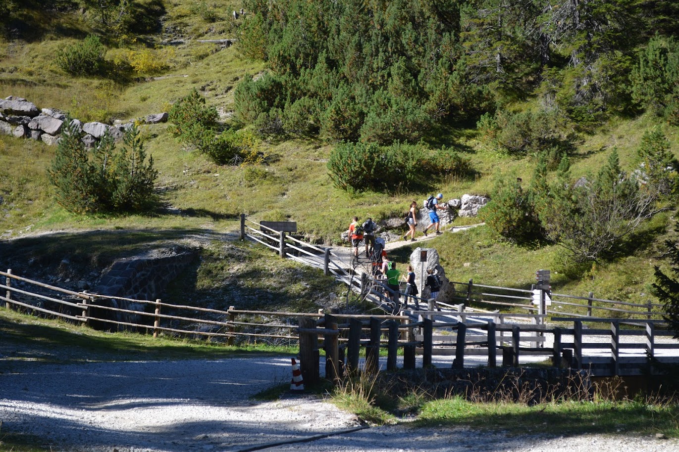
M57 202L75 213L139 212L153 207L158 171L146 159L139 130L126 131L116 147L108 134L88 155L82 132L67 121L49 170Z

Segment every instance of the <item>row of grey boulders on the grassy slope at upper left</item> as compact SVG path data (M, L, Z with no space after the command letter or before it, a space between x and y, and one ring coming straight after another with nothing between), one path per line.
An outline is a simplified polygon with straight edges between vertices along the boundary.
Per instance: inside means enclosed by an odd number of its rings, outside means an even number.
M113 136L115 140L122 139L125 131L134 122L144 124L164 123L168 114L158 113L141 119L130 119L124 123L116 121L114 125L99 122L83 123L79 119L71 119L76 127L84 132L82 137L86 146L92 148L105 136ZM16 96L0 99L0 134L12 135L16 138L31 138L54 146L58 143L67 115L56 108L39 109L33 102Z

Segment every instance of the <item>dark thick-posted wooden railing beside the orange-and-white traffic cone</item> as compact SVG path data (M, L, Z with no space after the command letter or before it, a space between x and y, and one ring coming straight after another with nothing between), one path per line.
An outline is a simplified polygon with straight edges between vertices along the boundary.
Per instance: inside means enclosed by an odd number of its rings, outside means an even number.
M671 338L674 333L656 329L654 321L646 321L644 329L623 329L624 319L591 319L609 323L610 329L583 329L581 319L558 319L572 321L570 328L498 324L481 318L445 322L430 318L440 314L422 312L417 322L412 322L409 316L339 314L326 314L319 321L299 319L299 356L304 379L310 383L318 380L321 349L325 350L326 377L331 380L359 369L361 348L365 356L363 370L367 372L380 369L381 348L387 350L388 371L397 369L399 354L403 355L403 369L415 369L416 354L422 355L422 367L431 365L437 354L454 354L453 367L457 368L464 367L466 356L483 354L488 357L485 364L496 367L499 352L502 366L519 367L522 356L544 356L555 367L587 369L594 375L635 375L653 372L654 362L679 362L679 342L657 342L657 338ZM502 319L502 315L497 318ZM439 333L435 334L437 330ZM550 346L546 346L547 335ZM564 341L565 336L572 336L572 342ZM624 337L642 340L623 342ZM623 350L627 354L630 350L638 353L623 356ZM672 354L659 356L657 350L672 350Z

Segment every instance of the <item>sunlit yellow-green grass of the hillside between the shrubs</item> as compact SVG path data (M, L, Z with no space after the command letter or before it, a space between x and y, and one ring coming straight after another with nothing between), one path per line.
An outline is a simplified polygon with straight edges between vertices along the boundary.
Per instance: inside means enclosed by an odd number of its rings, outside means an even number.
M91 22L77 13L62 15L62 26L53 18L49 21L35 18L42 21L39 39L0 42L0 96L22 96L39 107L69 110L82 119L127 120L166 111L172 102L196 87L209 104L217 106L224 121L230 123L234 87L246 73L260 73L265 66L242 60L237 43L221 48L198 40L234 37L230 12L240 9L240 3L216 0L209 5L201 4L207 10L189 0L164 5L163 33L128 37L117 47L111 46L107 55L109 60L115 60L151 52L150 58L165 64L163 70L152 73L141 70L128 83L69 77L54 64L54 54L73 43L74 37L89 33ZM64 29L71 32L60 33ZM170 41L173 44L168 44ZM650 115L614 119L597 133L582 136L572 156L573 176L597 171L612 148L617 148L621 165L630 169L642 133L656 123L657 119ZM677 129L666 127L666 131L676 153ZM147 152L153 155L160 171L158 191L164 208L149 215L124 217L73 215L63 210L54 203L48 182L47 169L54 148L30 140L0 137L0 235L124 228L173 237L178 231L234 230L238 227L237 215L245 212L253 220L295 220L299 230L312 239L338 245L339 234L346 230L353 215L361 218L370 215L377 220L400 216L411 200L419 203L426 197L425 192L350 195L337 190L326 169L332 146L323 142L263 143L263 150L270 156L268 165L220 167L181 148L167 133L166 125L145 126L143 134ZM469 126L449 131L436 140L465 152L478 171L473 180L450 179L433 188L443 192L446 199L466 193L489 194L497 178L521 177L528 184L532 177L533 156L516 159L499 155L484 147L475 129ZM439 251L448 276L455 281L473 278L480 283L527 288L533 282L535 269L551 268L555 270L552 285L557 292L585 295L593 291L596 297L645 302L653 299L650 295L653 265L663 265L662 241L670 237L667 230L671 218L672 213L663 213L648 222L635 237L630 237L627 255L600 264L586 274L561 271L562 253L558 247L513 247L497 241L483 228L445 234L430 242L430 246ZM396 253L397 260L405 262L410 251L406 248ZM3 261L7 266L25 264L28 254L18 250L12 255L5 254ZM215 247L205 256L208 261L217 261L210 256L222 254ZM204 287L221 287L228 279L221 271L206 271L206 275L212 276L205 276L210 282ZM260 277L261 272L255 276ZM200 277L186 281L187 286L177 291L186 296L187 290L196 289L191 287L196 281Z

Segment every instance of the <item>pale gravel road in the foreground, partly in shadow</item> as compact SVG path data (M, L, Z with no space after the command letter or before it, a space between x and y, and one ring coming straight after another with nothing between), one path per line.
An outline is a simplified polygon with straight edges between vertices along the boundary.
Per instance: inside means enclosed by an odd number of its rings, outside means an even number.
M0 422L44 438L54 452L679 451L678 440L655 436L361 428L354 415L312 396L251 400L290 379L288 357L78 365L0 360Z

